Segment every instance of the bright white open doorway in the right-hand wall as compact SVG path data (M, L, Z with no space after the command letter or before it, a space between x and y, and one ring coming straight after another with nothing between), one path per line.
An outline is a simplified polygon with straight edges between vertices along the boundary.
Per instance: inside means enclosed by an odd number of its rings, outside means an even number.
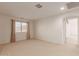
M78 18L67 19L65 25L66 44L78 44Z

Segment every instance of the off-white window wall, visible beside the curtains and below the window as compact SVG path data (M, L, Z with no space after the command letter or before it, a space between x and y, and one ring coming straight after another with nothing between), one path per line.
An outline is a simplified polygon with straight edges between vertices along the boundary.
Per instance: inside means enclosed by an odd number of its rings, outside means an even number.
M0 44L10 43L11 17L0 15ZM31 38L33 38L33 23L30 21ZM17 33L16 41L25 40L26 33Z

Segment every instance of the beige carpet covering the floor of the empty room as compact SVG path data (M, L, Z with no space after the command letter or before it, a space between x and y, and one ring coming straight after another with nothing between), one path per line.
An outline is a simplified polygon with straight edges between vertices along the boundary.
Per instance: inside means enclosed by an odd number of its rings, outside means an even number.
M69 56L79 55L78 46L58 45L41 40L25 40L3 46L2 56Z

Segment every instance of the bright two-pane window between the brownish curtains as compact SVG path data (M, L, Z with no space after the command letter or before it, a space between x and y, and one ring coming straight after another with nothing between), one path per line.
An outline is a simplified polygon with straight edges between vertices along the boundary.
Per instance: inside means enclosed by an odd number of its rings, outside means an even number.
M16 32L27 32L27 23L16 21Z

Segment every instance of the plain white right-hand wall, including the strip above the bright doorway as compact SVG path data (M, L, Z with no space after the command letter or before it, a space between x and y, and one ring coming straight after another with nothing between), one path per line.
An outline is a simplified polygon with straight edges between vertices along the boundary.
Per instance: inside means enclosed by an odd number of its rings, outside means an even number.
M63 12L63 11L62 11ZM36 39L54 43L64 43L63 19L67 16L79 16L79 9L54 17L43 18L35 21Z

